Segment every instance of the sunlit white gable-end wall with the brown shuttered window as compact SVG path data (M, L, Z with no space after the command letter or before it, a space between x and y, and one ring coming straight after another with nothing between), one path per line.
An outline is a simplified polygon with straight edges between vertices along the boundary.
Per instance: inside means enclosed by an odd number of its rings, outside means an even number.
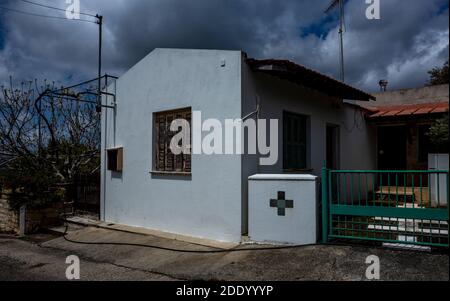
M150 170L153 113L192 107L203 119L241 117L241 52L156 49L117 80L116 93L116 116L102 114L102 149L123 146L124 169L102 173L102 219L240 241L240 156L193 155L191 177Z

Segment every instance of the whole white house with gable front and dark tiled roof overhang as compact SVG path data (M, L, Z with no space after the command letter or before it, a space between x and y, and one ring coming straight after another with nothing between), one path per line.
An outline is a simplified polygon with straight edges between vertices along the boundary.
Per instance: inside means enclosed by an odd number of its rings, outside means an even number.
M320 175L324 161L333 168L376 167L375 133L365 111L349 103L373 97L288 61L156 49L108 92L116 94L116 109L102 114L101 218L107 222L239 242L248 231L249 176ZM164 147L161 131L174 118L189 119L194 111L203 120L256 118L257 107L260 119L278 120L275 165L261 166L250 154L172 157Z

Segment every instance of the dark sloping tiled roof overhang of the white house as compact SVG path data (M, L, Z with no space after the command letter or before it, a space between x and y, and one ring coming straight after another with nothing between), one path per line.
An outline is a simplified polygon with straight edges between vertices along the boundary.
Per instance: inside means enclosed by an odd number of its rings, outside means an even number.
M247 63L253 71L267 73L332 97L361 101L376 99L369 93L288 60L247 59Z

